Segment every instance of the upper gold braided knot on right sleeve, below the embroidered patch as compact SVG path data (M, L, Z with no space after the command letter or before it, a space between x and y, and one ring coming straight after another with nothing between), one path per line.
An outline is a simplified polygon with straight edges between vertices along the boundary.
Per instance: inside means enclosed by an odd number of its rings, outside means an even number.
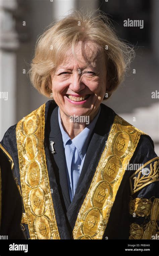
M148 216L151 213L152 202L148 199L135 198L129 202L129 213L140 217Z

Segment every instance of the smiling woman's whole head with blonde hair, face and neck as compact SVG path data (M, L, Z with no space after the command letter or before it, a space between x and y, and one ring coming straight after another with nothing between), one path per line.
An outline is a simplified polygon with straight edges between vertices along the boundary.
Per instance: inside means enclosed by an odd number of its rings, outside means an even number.
M69 116L89 115L92 121L102 100L123 81L134 56L110 24L104 15L74 11L51 24L37 41L28 74L40 93L53 96L70 138L86 124L68 127Z

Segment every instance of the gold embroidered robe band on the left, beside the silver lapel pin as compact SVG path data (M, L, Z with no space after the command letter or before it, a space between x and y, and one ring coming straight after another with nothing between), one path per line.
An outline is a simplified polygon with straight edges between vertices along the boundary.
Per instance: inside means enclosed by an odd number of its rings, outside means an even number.
M44 149L45 104L17 123L24 209L31 239L60 239Z

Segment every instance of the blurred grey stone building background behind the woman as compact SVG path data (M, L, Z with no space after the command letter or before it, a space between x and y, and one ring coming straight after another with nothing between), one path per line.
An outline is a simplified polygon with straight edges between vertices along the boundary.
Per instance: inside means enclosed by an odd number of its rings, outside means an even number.
M158 0L0 0L0 140L11 125L48 100L31 86L29 63L38 35L72 8L99 8L112 19L119 37L136 46L131 63L136 74L127 74L104 103L149 134L159 154L159 99L152 98L159 91ZM124 27L127 19L144 20L144 28Z

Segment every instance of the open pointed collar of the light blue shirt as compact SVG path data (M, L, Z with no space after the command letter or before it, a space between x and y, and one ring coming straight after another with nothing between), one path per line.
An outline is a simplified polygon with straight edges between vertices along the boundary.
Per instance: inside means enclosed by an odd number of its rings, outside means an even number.
M60 126L60 130L61 130L61 134L62 134L62 140L63 140L63 146L65 148L67 141L71 140L73 145L76 147L81 160L83 159L88 144L89 144L89 140L91 137L91 134L93 132L93 129L96 125L97 119L99 117L101 111L101 107L99 107L99 111L97 113L97 115L94 117L94 119L92 120L92 122L85 127L85 129L79 133L76 137L74 137L72 140L70 139L70 137L68 136L68 134L64 131L62 123L61 123L61 116L60 116L60 108L58 107L58 121L59 121L59 126Z

